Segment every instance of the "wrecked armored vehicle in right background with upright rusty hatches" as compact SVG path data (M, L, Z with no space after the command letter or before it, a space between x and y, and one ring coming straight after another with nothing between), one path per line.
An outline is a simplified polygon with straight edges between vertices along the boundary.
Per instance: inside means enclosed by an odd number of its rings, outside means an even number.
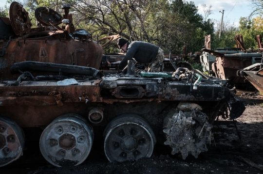
M210 50L210 37L206 37L206 45L209 49L203 48L200 57L203 70L214 74L217 78L227 80L229 85L247 85L248 81L244 77L237 75L237 71L251 64L260 63L261 53L255 50L246 50L243 44L242 35L236 35L237 47L217 48L216 51Z

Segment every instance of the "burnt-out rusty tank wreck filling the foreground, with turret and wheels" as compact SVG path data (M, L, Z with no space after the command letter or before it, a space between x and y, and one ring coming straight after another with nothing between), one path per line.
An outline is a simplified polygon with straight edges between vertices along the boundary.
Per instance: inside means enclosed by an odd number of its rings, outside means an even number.
M58 167L83 162L94 136L104 138L111 162L150 157L157 142L184 159L197 158L212 140L214 120L219 115L232 120L244 111L225 80L172 61L172 73L144 72L133 61L127 74L99 70L102 47L90 33L75 31L70 7L63 8L63 17L38 8L36 29L17 2L10 6L10 20L0 18L4 29L12 26L17 35L5 30L1 36L0 166L23 154L25 127L43 129L40 151ZM66 26L60 29L62 20Z

